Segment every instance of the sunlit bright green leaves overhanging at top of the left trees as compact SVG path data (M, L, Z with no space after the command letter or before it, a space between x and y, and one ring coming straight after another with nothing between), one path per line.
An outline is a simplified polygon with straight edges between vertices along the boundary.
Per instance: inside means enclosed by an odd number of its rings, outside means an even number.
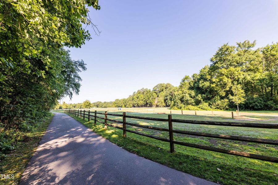
M42 58L41 50L33 46L34 39L39 39L51 50L63 46L81 46L85 40L91 39L90 34L82 28L82 24L90 24L87 21L90 20L87 18L87 6L99 9L97 0L4 0L0 4L0 12L3 12L0 14L0 57L12 57L17 63L30 57ZM5 72L10 75L15 71L27 72L25 68L32 65L27 64L26 60L24 63L26 66L17 66L13 68L14 71Z

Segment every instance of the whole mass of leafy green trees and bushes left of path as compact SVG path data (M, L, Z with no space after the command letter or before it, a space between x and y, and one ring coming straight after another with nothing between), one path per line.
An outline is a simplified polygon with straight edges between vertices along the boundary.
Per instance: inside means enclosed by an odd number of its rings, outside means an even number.
M91 39L82 27L93 25L88 6L100 9L97 0L0 3L0 154L13 150L20 133L36 128L57 100L79 92L85 64L63 48Z

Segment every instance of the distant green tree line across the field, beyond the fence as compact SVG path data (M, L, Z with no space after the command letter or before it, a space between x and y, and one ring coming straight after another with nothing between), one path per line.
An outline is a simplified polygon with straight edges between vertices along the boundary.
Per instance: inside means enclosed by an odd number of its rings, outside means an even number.
M171 107L171 109L278 109L278 43L254 49L248 40L219 47L211 64L185 76L178 87L157 84L113 102L86 100L56 108Z

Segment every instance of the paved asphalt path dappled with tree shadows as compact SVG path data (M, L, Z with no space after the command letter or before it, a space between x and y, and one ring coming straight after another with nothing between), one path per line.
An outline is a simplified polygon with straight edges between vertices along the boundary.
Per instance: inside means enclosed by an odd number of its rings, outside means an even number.
M19 184L215 183L129 153L72 117L55 113Z

